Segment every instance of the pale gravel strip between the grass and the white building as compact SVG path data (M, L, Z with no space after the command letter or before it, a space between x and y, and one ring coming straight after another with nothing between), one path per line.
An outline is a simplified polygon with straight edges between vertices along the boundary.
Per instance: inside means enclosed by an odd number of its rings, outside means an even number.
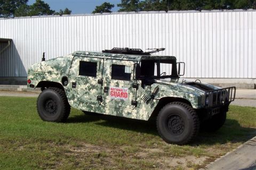
M0 91L0 96L37 97L39 92ZM256 89L237 89L236 99L231 105L256 107Z

